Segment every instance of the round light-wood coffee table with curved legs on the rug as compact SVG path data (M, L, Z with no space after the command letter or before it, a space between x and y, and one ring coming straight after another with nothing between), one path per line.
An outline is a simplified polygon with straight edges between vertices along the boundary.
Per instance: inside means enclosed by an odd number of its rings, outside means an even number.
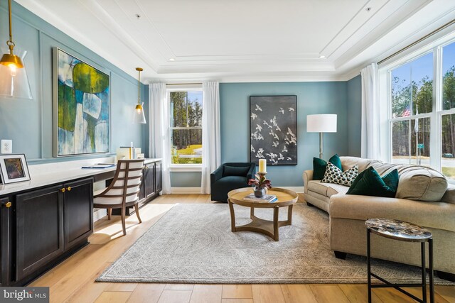
M269 189L269 192L267 192L267 194L274 194L277 196L277 201L272 203L245 201L243 198L248 194L252 194L252 192L252 187L234 189L228 192L230 224L232 232L255 231L257 233L263 233L264 235L273 238L274 241L279 241L278 228L292 224L292 206L297 202L299 195L289 189L273 187L272 189ZM250 219L252 219L252 221L249 224L235 226L235 212L233 204L250 207ZM279 208L284 206L288 206L287 220L278 221ZM273 221L258 218L255 216L255 209L273 209Z

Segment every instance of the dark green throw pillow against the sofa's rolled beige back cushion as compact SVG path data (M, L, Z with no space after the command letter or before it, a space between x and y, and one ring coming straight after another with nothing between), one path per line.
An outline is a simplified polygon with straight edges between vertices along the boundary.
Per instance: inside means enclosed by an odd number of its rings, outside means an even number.
M393 198L397 194L398 170L380 177L373 167L368 167L355 178L346 194Z

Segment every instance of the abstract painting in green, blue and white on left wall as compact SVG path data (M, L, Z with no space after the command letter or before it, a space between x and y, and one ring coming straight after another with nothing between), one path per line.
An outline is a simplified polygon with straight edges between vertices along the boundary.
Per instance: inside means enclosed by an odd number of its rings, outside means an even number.
M54 48L54 155L109 152L109 75Z

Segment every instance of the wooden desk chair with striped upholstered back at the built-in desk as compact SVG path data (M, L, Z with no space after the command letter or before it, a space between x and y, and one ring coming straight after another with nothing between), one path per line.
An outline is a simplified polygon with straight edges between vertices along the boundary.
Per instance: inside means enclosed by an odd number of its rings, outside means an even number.
M107 209L107 219L111 219L112 209L122 209L123 235L127 235L125 228L125 213L129 206L134 206L137 219L142 223L139 216L139 190L142 182L142 170L144 159L119 160L114 180L109 187L95 192L93 207Z

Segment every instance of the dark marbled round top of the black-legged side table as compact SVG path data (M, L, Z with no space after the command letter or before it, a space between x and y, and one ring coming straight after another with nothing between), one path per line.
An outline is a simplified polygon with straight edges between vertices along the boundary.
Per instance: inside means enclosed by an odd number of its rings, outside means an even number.
M432 237L426 228L395 219L368 219L365 225L372 233L401 241L424 242Z

